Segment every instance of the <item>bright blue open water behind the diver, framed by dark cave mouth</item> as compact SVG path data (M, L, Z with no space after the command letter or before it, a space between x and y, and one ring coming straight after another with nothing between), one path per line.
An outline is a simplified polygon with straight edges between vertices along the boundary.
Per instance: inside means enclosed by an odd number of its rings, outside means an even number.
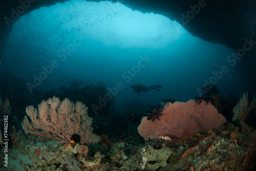
M113 95L119 107L134 97L152 104L194 99L206 82L239 96L246 92L227 61L233 50L190 35L177 21L121 3L74 0L41 7L14 22L5 49L3 69L25 79L31 93L67 86L67 79L102 81L109 90L118 83ZM135 84L162 90L137 95L130 88Z

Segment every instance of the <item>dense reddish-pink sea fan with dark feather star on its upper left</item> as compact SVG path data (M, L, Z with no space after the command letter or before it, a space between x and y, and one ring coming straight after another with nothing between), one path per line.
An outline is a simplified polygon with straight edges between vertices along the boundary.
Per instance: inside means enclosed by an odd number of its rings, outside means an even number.
M151 121L143 117L138 127L139 134L145 139L157 139L162 136L186 138L196 135L199 131L207 132L220 127L226 122L222 114L210 103L167 103L159 120Z

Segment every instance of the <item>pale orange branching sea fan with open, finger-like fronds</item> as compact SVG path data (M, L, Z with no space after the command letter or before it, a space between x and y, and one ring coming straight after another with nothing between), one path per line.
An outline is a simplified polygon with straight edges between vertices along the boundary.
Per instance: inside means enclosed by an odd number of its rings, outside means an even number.
M27 116L22 123L26 134L31 133L42 137L70 142L74 135L79 136L81 143L98 143L99 136L94 134L92 118L87 114L88 107L81 102L72 103L69 99L62 102L57 97L42 101L38 111L34 106L28 106Z

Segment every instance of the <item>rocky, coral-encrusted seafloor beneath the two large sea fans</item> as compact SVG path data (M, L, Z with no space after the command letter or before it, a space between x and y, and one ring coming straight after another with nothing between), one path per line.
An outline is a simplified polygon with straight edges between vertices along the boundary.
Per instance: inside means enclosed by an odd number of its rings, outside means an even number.
M101 136L101 143L80 145L22 131L11 135L8 167L1 170L255 170L256 131L225 126L189 139L142 141L138 134ZM1 151L1 158L4 152Z

